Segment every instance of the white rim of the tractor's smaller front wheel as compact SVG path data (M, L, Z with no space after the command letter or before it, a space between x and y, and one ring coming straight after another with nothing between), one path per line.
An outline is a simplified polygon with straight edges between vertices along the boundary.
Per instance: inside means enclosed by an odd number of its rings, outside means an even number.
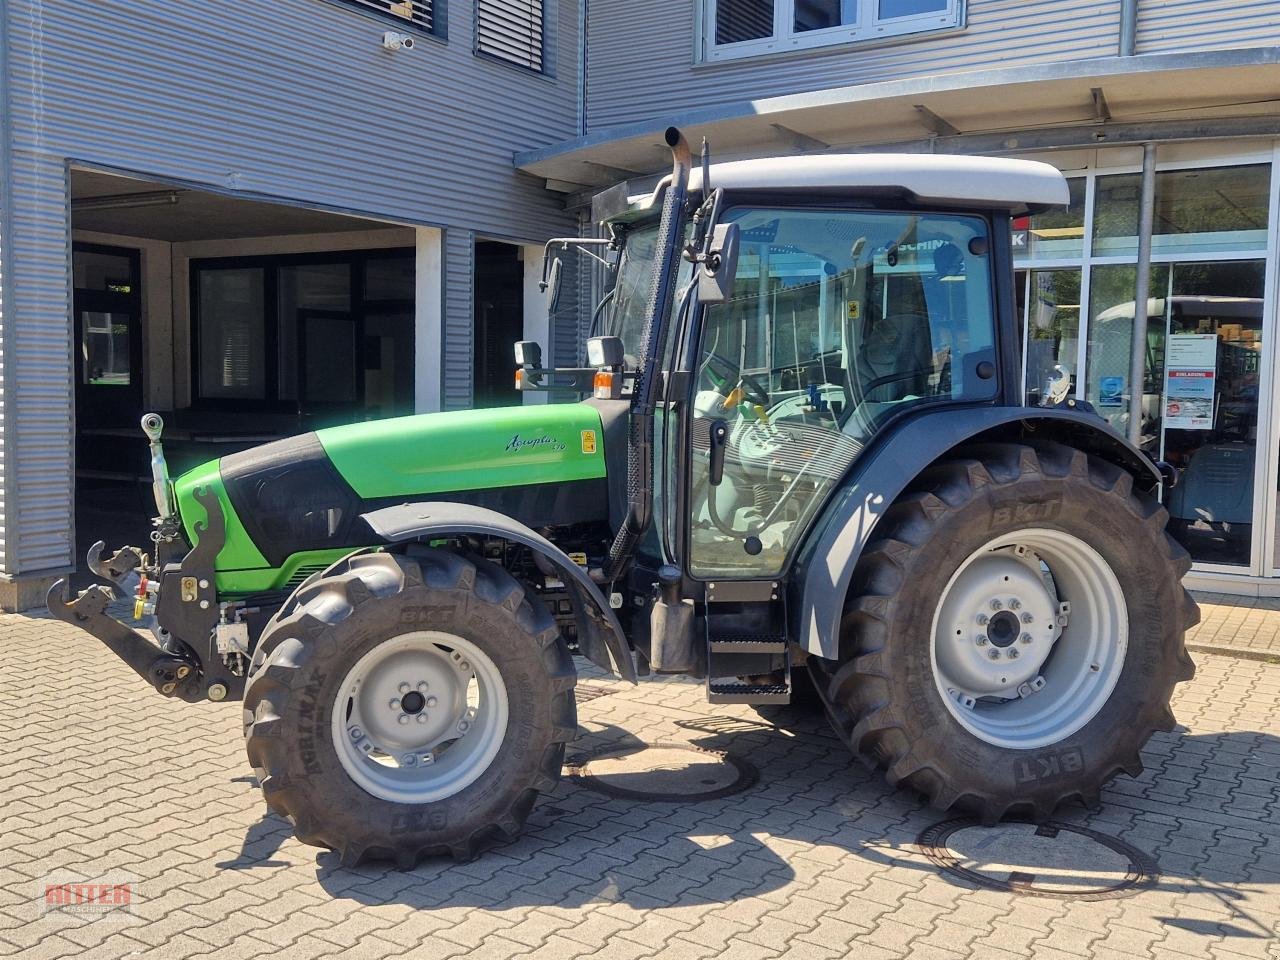
M333 707L343 769L366 792L401 804L435 803L474 783L507 733L507 686L493 660L433 630L361 657Z

